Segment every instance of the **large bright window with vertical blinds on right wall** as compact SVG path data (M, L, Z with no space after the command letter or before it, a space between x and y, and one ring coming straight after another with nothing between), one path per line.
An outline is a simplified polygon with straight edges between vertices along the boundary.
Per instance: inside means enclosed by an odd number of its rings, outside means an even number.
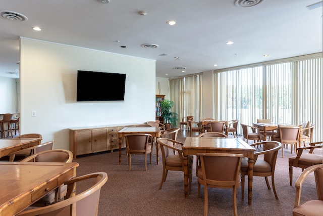
M276 123L315 124L313 140L322 140L322 58L214 72L214 109L218 119L257 118ZM240 128L238 128L240 132Z

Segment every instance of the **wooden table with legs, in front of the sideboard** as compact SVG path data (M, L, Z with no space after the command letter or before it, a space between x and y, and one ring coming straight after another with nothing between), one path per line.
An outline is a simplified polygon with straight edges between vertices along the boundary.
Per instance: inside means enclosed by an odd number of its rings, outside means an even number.
M150 134L154 138L154 143L156 144L156 160L159 164L159 144L156 142L156 138L160 137L163 130L160 127L124 127L118 132L119 138L119 164L121 164L121 149L122 149L122 138L126 134Z

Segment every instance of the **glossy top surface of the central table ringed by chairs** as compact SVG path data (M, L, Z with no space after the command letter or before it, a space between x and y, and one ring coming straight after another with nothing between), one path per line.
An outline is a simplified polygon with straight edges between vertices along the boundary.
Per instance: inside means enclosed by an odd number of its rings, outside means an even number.
M187 137L185 148L204 148L204 149L241 149L255 151L253 147L240 138L218 138L218 137Z

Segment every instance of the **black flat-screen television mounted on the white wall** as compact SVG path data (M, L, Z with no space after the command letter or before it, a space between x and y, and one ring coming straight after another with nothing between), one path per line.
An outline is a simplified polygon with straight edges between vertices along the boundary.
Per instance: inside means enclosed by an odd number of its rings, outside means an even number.
M76 101L124 101L126 74L77 71Z

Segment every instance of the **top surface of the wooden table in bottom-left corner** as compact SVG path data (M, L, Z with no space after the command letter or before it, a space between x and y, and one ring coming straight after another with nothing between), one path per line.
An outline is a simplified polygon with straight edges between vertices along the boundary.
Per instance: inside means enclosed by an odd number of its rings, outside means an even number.
M76 162L0 162L0 214L8 204L18 202L78 165Z

